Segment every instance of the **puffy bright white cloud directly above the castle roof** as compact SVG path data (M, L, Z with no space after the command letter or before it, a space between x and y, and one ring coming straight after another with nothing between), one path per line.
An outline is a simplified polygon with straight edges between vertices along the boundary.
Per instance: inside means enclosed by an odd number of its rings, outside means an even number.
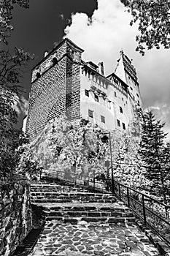
M91 20L85 13L72 14L72 24L65 29L66 37L82 49L83 59L104 61L107 74L113 72L121 48L131 48L134 54L136 26L128 25L131 16L125 12L119 0L98 0L98 10Z

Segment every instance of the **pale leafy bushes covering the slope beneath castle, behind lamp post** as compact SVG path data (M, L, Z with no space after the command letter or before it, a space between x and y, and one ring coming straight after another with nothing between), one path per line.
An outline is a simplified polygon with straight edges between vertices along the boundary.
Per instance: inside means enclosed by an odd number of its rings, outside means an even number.
M133 133L134 129L131 131ZM111 146L115 178L131 187L142 187L144 177L138 154L138 136L116 130L111 133ZM84 119L71 122L66 117L58 118L31 142L31 148L33 159L43 167L44 174L47 171L54 177L72 181L77 178L93 181L96 178L96 182L104 181L109 186L109 134L96 124ZM25 160L21 158L22 161Z

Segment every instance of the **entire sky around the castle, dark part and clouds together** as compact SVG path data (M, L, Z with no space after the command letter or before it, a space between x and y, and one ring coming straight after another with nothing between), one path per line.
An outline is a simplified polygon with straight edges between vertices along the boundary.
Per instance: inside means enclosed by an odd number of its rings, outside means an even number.
M170 132L170 50L146 50L141 56L135 51L137 24L130 26L130 21L120 0L30 0L27 10L15 6L9 47L17 45L35 54L24 74L19 124L26 114L31 68L45 50L68 37L85 50L84 61L104 61L106 75L115 71L123 49L136 67L144 109L150 108L166 122L165 131Z

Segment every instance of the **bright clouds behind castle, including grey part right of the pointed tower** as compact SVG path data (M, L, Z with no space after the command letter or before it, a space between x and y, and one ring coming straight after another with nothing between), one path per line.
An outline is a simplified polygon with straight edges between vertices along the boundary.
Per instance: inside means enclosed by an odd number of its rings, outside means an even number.
M98 0L98 9L91 18L82 12L72 14L65 34L85 50L83 60L96 64L104 61L106 75L115 71L123 48L136 67L144 108L157 110L170 129L169 116L163 114L169 112L170 51L163 48L146 50L145 56L141 56L135 51L135 38L139 34L137 24L130 26L130 21L131 15L125 12L120 0Z

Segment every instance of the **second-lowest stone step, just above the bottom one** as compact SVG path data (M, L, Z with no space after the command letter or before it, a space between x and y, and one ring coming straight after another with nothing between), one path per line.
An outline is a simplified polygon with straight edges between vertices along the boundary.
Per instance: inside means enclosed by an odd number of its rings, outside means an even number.
M131 211L44 211L47 217L134 217Z

